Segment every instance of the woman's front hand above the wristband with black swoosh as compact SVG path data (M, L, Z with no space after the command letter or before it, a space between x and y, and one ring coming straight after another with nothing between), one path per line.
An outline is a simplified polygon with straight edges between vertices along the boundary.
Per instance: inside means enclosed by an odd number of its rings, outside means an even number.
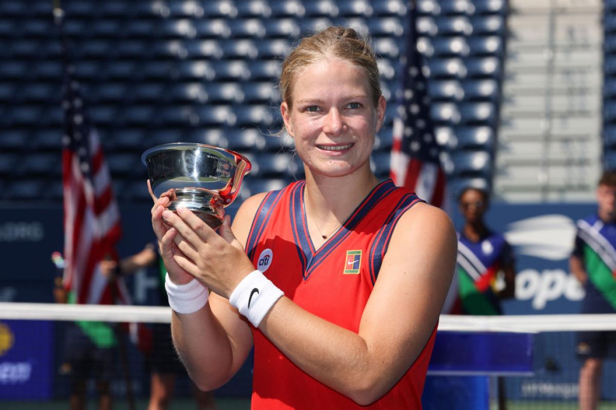
M174 261L220 296L229 298L238 283L254 270L231 231L229 216L225 216L219 234L184 207L177 208L176 213L164 211L163 219L177 230L173 240L183 255L174 255Z

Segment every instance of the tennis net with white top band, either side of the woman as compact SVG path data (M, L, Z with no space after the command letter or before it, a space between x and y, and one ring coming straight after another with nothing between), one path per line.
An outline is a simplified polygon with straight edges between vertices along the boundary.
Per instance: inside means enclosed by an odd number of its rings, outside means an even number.
M180 371L172 408L195 408L192 384L175 353L157 342L169 336L170 319L168 307L0 303L0 407L67 408L78 374L89 376L86 400L96 401L97 376L108 371L114 408L145 408L153 366L171 366ZM614 335L616 315L443 315L424 408L496 409L499 395L509 410L578 408L582 331ZM100 358L83 350L93 343L104 347L105 337L113 358L101 370ZM600 409L616 409L612 341ZM251 358L214 392L217 408L247 409L250 392Z

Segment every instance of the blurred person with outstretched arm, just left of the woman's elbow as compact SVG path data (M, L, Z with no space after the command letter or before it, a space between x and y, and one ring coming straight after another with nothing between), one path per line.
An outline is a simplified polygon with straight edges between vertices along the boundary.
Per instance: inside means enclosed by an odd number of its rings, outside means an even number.
M134 274L145 267L156 269L158 279L158 301L160 306L169 306L167 293L164 291L164 276L166 269L162 259L156 251L157 246L148 243L144 249L136 254L121 259L120 263L113 260L102 261L103 275L110 280L117 275ZM171 328L167 323L154 323L152 328L152 349L147 353L147 364L150 368L150 401L148 410L166 410L171 403L177 376L186 374L182 362L177 357L171 340ZM211 392L202 392L192 384L193 396L197 402L198 410L214 410L214 395Z

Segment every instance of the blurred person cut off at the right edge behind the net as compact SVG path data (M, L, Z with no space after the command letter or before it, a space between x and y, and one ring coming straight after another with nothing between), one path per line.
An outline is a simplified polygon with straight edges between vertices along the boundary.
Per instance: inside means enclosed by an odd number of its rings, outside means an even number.
M569 267L586 291L581 313L616 313L616 171L601 175L596 197L597 212L577 221ZM603 361L615 346L616 332L577 334L580 409L598 407Z

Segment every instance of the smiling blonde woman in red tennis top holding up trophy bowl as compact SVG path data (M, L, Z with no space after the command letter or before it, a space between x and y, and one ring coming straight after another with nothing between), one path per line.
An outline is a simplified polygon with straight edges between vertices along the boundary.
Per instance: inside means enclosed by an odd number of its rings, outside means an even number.
M249 198L220 236L165 195L152 208L176 349L212 390L254 344L253 409L421 408L452 223L370 171L386 103L354 30L304 39L280 90L306 181Z

